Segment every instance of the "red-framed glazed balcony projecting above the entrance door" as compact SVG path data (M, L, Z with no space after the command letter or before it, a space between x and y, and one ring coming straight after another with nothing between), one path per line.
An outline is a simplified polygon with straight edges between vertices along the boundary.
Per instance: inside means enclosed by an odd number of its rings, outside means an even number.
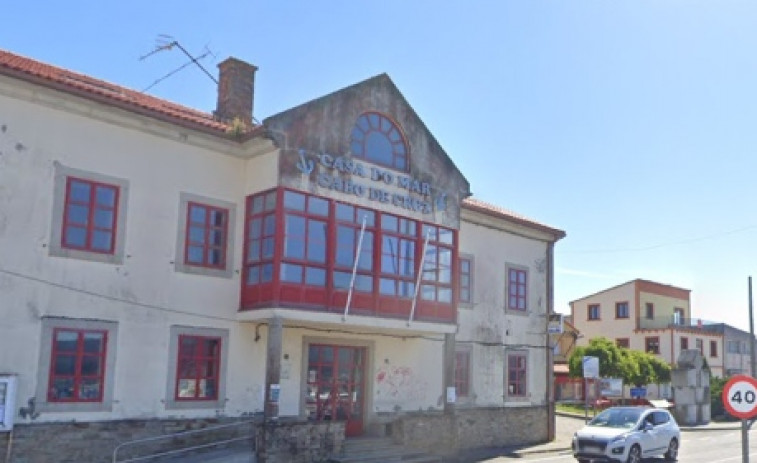
M287 191L325 200L328 203L326 262L325 264L318 263L319 268L325 268L327 271L325 286L290 283L281 278L282 264L288 264L292 261L284 256L285 233L282 232L285 226L285 215L290 214L290 211L284 207L284 195ZM264 207L263 197L271 198L270 207ZM268 200L265 202L267 203ZM341 214L340 208L352 208L352 215ZM307 307L342 313L345 310L348 298L350 284L348 280L351 280L352 277L354 252L362 226L362 217L366 214L370 216L371 220L367 222L363 236L361 260L358 261L355 284L349 303L350 311L362 315L407 318L411 312L417 272L423 253L424 241L421 233L425 225L433 224L425 224L414 219L356 204L343 203L285 188L264 191L247 198L245 265L240 310L255 310L269 307L271 304L281 304L282 307ZM309 213L303 215L303 217L309 216ZM318 217L318 220L322 219L323 217ZM266 221L270 224L269 227L264 225ZM389 226L382 226L385 222ZM340 239L340 227L342 227L343 232L344 227L352 230L352 233L355 234L354 237L350 238L349 231L347 231L347 235L345 235L347 238ZM449 281L444 276L441 278L442 281L432 281L431 278L428 278L422 284L432 286L437 298L443 291L450 291L451 296L448 302L444 302L424 300L419 293L415 319L454 322L457 315L458 291L456 283L458 278L457 231L437 227L437 231L439 230L441 232L436 237L437 243L450 250L449 258L445 256L443 261L445 265L449 261ZM262 244L264 240L269 241L267 246ZM391 249L388 247L389 241L392 243ZM398 243L404 244L398 246ZM345 246L349 249L346 249ZM400 254L397 253L398 247L401 251ZM264 248L269 250L265 255ZM436 249L435 252L438 252L439 248ZM347 255L349 255L349 258L347 258ZM363 266L363 260L369 262L370 265ZM439 259L437 258L434 262L435 268L431 269L433 273L429 273L435 278L446 271L446 267L439 266L438 263ZM265 266L267 268L264 268ZM267 273L264 273L263 270ZM261 275L264 274L268 275L268 279L265 281L261 280Z

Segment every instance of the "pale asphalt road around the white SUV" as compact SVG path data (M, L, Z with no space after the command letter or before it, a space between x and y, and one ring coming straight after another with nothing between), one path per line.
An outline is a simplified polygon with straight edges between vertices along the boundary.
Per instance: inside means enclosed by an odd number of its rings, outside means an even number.
M560 450L566 447L566 439L572 436L576 428L583 426L583 420L569 417L557 417L557 439L551 448L545 447L543 451L533 453L520 453L512 456L498 456L479 460L481 463L499 463L511 460L542 462L542 463L568 463L574 462L570 451ZM757 428L748 433L749 436L749 460L757 462ZM567 440L569 445L569 440ZM658 463L665 461L662 458L644 460L645 463ZM741 431L738 429L709 429L698 431L684 431L681 436L681 449L678 455L681 463L740 463L741 455Z

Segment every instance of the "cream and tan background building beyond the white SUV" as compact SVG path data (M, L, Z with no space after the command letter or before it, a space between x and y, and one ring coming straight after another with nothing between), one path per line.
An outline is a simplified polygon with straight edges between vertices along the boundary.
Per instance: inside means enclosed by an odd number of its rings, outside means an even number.
M713 376L723 376L723 336L691 318L691 291L649 280L632 280L570 303L571 320L583 335L659 356L675 365L684 349L699 349ZM663 387L660 395L670 391Z

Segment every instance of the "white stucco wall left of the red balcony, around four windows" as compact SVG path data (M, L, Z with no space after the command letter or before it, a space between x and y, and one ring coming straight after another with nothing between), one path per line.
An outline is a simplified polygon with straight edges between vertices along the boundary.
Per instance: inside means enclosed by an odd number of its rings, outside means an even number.
M116 122L87 117L88 111ZM201 136L149 119L142 130L135 117L0 81L0 371L18 374L18 403L39 390L42 317L118 326L117 345L108 346L117 352L112 412L42 413L40 421L215 413L163 406L172 325L228 330L228 369L240 380L227 382L219 412L262 409L265 346L252 341L252 325L236 322L244 179L253 161L219 154L227 151L223 142L195 140ZM128 181L121 265L49 255L55 163ZM181 192L236 205L230 278L174 270Z

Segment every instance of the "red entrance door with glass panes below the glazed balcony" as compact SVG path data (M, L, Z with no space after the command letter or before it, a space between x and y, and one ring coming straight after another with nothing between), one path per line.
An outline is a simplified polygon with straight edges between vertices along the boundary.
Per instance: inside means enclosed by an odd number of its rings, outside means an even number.
M363 432L365 348L311 344L307 407L315 420L346 421L347 436Z

